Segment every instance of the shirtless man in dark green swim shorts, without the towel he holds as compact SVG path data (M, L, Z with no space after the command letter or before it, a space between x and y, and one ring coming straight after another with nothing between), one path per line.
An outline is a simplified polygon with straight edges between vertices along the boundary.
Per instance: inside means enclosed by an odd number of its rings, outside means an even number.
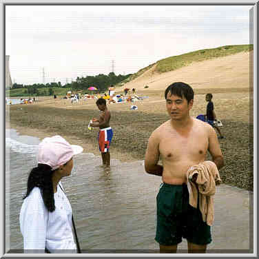
M200 210L189 205L186 173L189 167L205 160L207 150L220 169L224 166L222 152L213 127L189 115L194 104L189 85L169 85L165 100L170 120L154 130L145 154L145 171L163 180L156 198L155 240L160 253L176 253L182 238L187 239L189 253L205 253L211 230ZM159 157L163 165L158 165Z

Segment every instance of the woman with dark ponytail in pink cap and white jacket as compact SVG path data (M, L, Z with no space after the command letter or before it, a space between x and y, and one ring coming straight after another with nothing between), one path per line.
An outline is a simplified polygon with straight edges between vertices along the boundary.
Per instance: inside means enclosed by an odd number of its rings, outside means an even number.
M72 231L72 208L61 179L70 176L73 157L83 148L61 136L39 143L37 167L28 177L19 222L25 253L76 253Z

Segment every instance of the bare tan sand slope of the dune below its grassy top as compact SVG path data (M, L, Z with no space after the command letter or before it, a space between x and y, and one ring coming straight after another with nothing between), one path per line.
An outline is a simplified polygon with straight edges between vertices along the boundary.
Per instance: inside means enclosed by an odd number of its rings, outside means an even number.
M144 90L164 90L170 83L182 81L195 88L248 88L249 72L253 68L253 51L224 56L207 61L192 63L178 70L159 74L155 72L156 64L141 76L126 83L128 87ZM120 88L118 88L119 90Z

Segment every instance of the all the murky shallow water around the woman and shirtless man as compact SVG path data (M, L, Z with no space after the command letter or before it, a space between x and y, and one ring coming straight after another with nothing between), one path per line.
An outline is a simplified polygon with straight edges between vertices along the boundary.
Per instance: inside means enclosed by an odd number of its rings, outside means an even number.
M10 253L23 252L19 212L28 173L37 165L38 144L39 138L6 130L5 234L6 251ZM101 157L87 150L74 158L72 175L63 178L62 183L72 205L83 253L158 253L154 236L161 178L146 174L143 164L143 160L111 160L107 171L101 167ZM216 220L211 229L214 241L208 249L217 253L249 249L249 213L253 214L249 211L249 193L220 185L215 207ZM178 253L187 253L186 249L187 241L183 239Z

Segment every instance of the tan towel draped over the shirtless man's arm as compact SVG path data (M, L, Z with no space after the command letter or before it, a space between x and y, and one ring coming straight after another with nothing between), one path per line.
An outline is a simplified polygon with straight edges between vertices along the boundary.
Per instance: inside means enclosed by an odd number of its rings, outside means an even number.
M196 184L191 181L192 176L198 174ZM189 189L189 204L197 208L199 196L199 208L203 215L203 221L211 226L214 221L214 194L216 185L222 182L216 164L212 161L204 161L193 165L187 170L187 185Z

